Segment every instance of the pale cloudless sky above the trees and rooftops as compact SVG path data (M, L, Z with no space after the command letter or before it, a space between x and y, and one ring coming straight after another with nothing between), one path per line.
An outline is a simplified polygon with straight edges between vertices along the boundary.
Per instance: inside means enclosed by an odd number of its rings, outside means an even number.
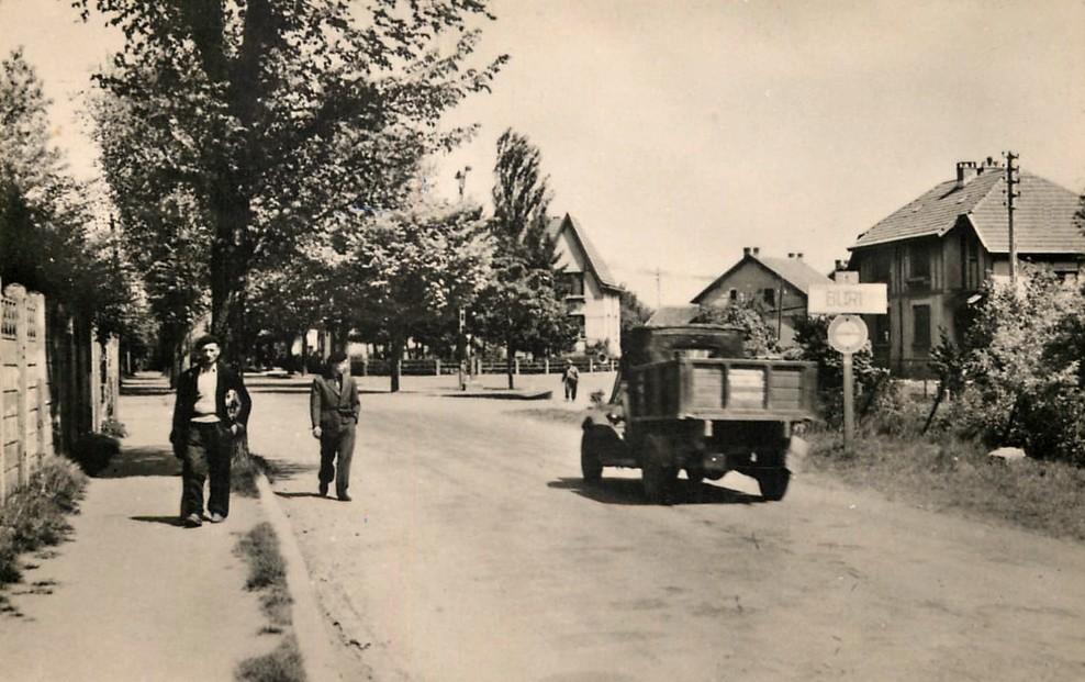
M0 0L0 52L23 44L56 101L72 169L93 159L72 112L119 38L66 0ZM689 301L742 247L819 270L960 160L1000 158L1085 190L1085 1L492 0L480 58L508 54L478 123L438 159L488 202L497 136L542 155L572 214L650 305ZM72 96L76 96L72 101Z

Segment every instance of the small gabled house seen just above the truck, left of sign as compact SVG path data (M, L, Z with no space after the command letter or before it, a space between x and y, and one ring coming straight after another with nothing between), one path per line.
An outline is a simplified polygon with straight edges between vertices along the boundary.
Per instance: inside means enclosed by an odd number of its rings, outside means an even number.
M786 347L795 338L795 321L806 316L809 286L830 282L828 277L803 260L801 253L774 258L762 256L761 249L752 246L743 248L741 260L692 302L723 308L732 301L758 301L765 322L776 331L780 345Z

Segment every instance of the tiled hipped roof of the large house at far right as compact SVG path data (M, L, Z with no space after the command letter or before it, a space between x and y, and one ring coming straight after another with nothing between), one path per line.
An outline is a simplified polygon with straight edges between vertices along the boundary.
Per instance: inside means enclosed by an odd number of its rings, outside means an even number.
M1014 212L1014 233L1019 253L1085 253L1085 235L1074 214L1077 195L1050 180L1027 171L1020 174ZM942 236L960 216L972 222L988 251L1009 251L1009 224L1003 204L1005 171L988 168L961 189L955 180L935 186L859 235L849 249L924 236Z

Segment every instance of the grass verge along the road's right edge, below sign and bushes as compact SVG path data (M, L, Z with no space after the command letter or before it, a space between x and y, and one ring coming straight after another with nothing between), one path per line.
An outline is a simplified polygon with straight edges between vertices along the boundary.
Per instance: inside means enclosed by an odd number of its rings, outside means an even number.
M807 469L846 484L1085 541L1085 470L1071 465L992 461L987 448L949 435L928 440L861 433L850 455L839 434L814 433L808 439Z

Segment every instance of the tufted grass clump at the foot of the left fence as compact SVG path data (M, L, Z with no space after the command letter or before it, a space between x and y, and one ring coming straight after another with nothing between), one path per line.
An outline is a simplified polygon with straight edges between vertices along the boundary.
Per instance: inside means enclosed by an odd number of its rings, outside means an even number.
M0 507L0 586L19 582L19 557L60 544L71 530L67 516L78 510L87 476L63 457L46 457L26 485Z

